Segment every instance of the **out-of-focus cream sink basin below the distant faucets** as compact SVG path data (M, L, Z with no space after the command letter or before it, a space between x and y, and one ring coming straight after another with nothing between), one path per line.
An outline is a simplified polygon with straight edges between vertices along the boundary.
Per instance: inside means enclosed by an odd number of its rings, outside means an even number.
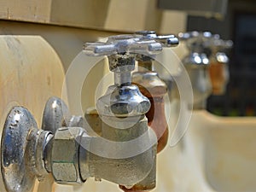
M158 157L158 191L256 191L256 118L194 111L183 140Z

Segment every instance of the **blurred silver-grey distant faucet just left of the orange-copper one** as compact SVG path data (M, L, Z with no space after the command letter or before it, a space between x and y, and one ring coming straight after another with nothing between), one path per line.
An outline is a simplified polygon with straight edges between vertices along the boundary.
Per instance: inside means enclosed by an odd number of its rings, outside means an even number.
M206 107L207 97L212 93L212 84L209 76L209 49L207 42L212 38L211 32L179 33L181 41L185 41L189 55L183 58L183 65L189 73L193 88L194 102L189 103L194 109Z

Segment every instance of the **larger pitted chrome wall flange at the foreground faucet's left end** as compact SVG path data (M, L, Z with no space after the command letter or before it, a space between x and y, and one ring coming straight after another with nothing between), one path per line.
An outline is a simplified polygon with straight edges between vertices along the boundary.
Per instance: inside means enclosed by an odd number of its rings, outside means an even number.
M32 114L23 108L14 108L6 119L2 136L1 171L8 191L25 192L32 189L36 177L30 156L26 153L30 144L26 138L35 127L37 124Z

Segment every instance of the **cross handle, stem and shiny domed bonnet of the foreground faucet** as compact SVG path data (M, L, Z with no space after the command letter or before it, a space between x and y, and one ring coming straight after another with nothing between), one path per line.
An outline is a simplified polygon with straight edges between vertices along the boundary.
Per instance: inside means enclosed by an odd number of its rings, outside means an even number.
M137 86L131 85L131 71L135 66L136 55L154 56L166 44L174 44L172 38L175 37L158 37L154 32L147 31L137 33L111 36L107 43L84 44L87 55L108 55L109 69L114 73L115 85L97 101L100 115L134 116L147 113L150 108L148 99L140 93Z

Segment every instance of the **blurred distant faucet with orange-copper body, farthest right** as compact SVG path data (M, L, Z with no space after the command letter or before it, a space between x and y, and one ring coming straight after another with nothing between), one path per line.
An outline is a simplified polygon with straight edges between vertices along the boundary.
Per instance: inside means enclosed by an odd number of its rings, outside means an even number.
M211 49L209 73L212 82L212 95L223 95L230 79L229 57L226 51L231 49L233 42L213 35L207 46Z

